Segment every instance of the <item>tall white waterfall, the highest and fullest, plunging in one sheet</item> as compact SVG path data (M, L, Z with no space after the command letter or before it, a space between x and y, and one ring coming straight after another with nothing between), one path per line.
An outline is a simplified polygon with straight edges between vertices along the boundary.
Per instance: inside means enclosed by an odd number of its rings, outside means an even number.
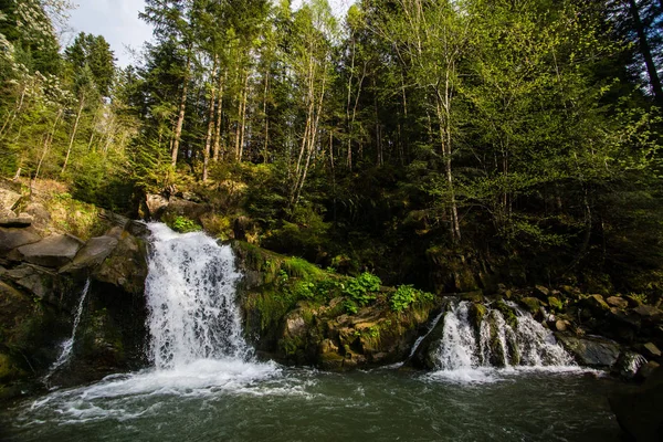
M230 246L201 232L178 234L157 223L149 228L152 253L145 292L156 368L246 359L250 347L234 298L241 275Z

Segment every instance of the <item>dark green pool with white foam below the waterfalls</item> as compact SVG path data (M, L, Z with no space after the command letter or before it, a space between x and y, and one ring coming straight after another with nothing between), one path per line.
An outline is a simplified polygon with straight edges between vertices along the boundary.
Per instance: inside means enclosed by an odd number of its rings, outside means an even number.
M625 386L578 369L329 373L200 360L14 403L8 441L619 441L607 398Z

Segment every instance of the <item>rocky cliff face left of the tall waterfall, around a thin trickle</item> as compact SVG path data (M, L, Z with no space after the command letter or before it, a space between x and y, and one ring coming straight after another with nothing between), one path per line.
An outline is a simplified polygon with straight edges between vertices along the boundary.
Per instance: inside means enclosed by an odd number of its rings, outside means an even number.
M106 232L83 241L53 222L44 201L20 190L1 192L0 394L144 365L145 228L122 218L99 221ZM53 369L76 316L71 356Z

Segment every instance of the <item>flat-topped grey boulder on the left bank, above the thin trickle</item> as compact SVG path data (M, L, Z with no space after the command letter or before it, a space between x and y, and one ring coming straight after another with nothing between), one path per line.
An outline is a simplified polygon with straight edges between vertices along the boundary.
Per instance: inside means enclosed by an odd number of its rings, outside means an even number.
M44 267L61 267L72 262L84 242L70 234L55 234L34 244L23 245L17 261L25 261Z

